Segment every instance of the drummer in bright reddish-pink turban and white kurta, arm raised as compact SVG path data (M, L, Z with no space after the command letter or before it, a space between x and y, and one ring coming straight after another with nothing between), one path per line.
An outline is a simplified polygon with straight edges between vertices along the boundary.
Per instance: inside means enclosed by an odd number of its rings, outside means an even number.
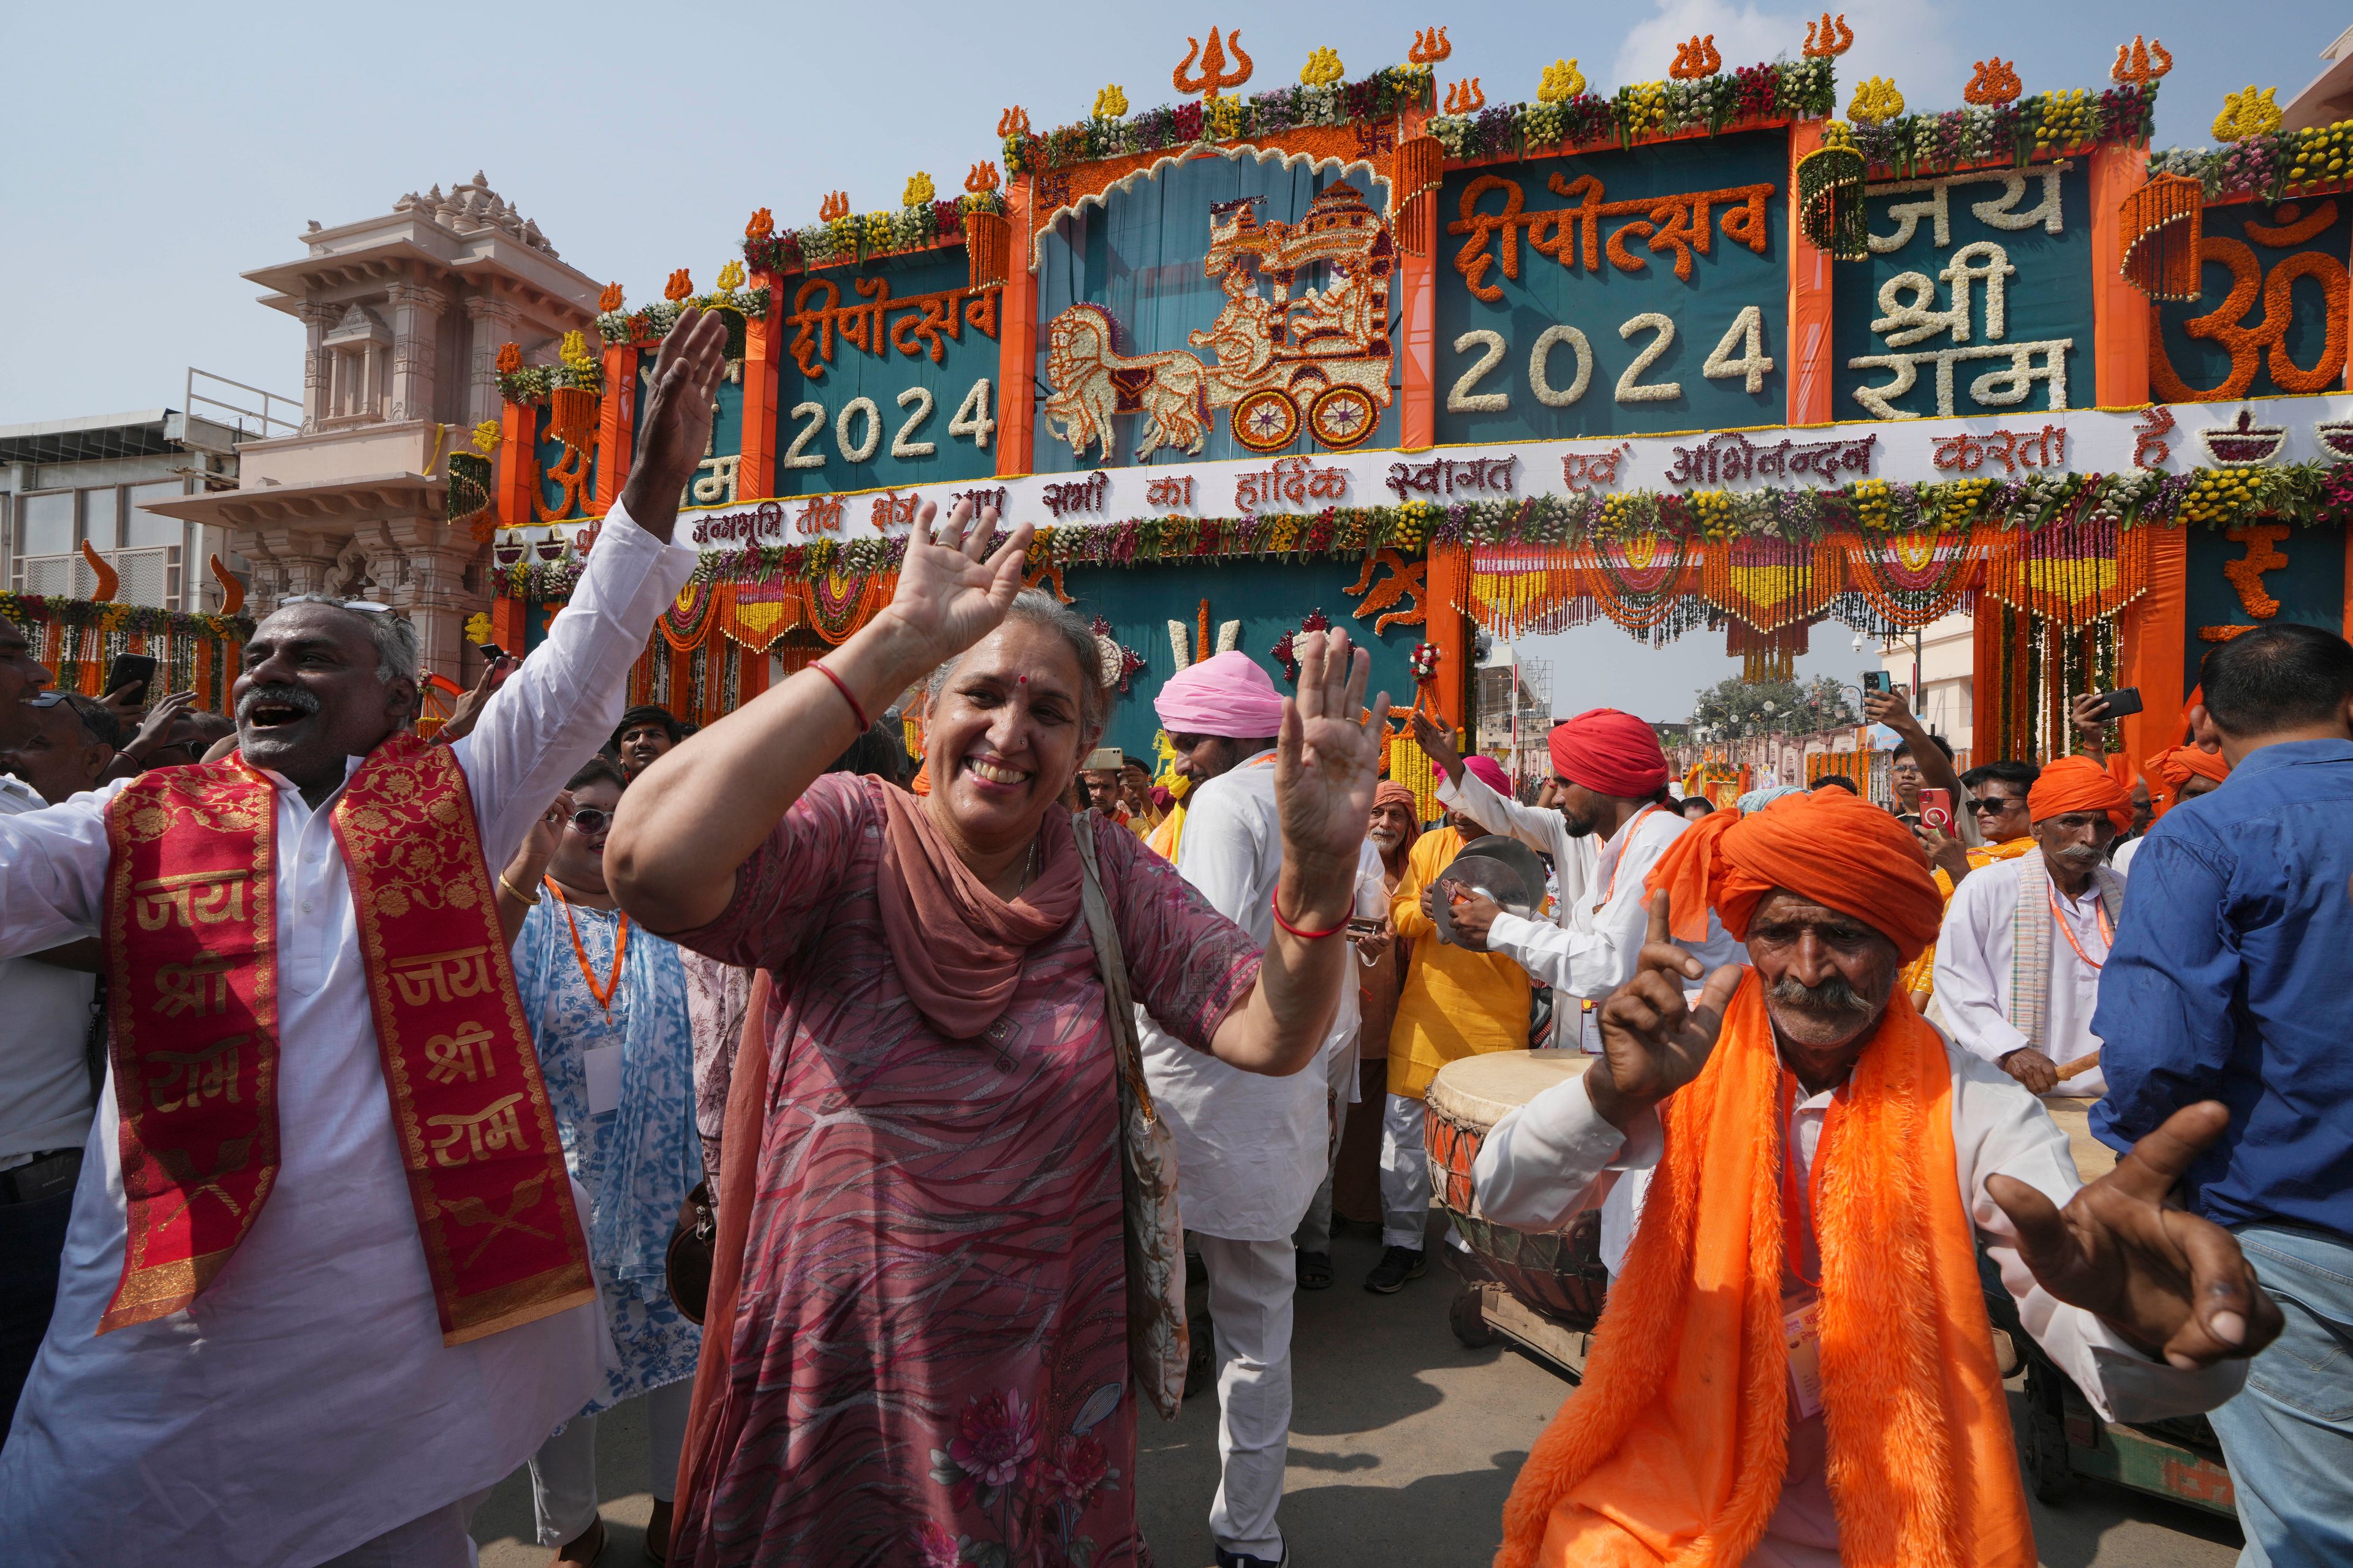
M1457 905L1454 931L1485 940L1487 952L1511 957L1553 987L1553 1046L1598 1051L1595 1009L1633 978L1642 952L1642 879L1692 825L1666 795L1657 731L1617 708L1553 724L1553 809L1520 806L1482 783L1454 752L1452 736L1421 717L1414 738L1447 776L1438 799L1480 832L1511 835L1551 856L1560 886L1548 922L1473 898ZM1711 924L1704 943L1685 945L1711 969L1741 961L1722 924Z

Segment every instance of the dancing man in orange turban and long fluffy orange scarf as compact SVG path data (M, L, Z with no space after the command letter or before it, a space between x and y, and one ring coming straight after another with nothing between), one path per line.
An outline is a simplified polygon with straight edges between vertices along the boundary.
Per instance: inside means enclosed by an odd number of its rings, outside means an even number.
M1475 1166L1499 1225L1600 1206L1614 1274L1497 1568L2031 1566L1977 1241L2104 1418L2219 1406L2280 1324L2228 1232L2165 1211L2224 1110L2179 1112L2085 1197L2033 1098L1897 990L1939 898L1852 795L1704 818L1649 889L1602 1058ZM1694 1004L1671 938L1711 910L1753 969Z

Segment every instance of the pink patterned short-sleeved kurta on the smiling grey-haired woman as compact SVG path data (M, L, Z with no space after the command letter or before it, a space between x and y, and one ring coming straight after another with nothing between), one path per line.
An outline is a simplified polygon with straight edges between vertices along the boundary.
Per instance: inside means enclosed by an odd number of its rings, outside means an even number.
M678 1559L1096 1568L1141 1556L1118 1093L1085 919L974 1039L885 938L889 785L826 776L682 945L772 971L729 1387ZM1075 860L1049 811L1045 875ZM1259 952L1134 835L1096 851L1136 1001L1207 1051Z

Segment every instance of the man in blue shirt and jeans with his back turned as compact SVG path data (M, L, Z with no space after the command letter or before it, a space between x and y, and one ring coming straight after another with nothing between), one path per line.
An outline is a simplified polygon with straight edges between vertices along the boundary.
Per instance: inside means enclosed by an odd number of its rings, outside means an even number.
M2195 1100L2231 1128L2186 1199L2238 1234L2287 1328L2214 1410L2242 1566L2353 1563L2353 646L2264 625L2205 658L2231 778L2151 830L2092 1032L2115 1145Z

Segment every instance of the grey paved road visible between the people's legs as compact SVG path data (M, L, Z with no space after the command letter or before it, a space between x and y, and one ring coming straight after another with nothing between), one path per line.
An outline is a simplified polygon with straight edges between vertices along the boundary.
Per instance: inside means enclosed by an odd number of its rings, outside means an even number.
M1299 1298L1294 1420L1282 1528L1294 1568L1398 1563L1487 1568L1504 1495L1527 1446L1569 1385L1515 1349L1464 1349L1447 1331L1454 1276L1442 1267L1398 1295L1360 1288L1379 1246L1337 1244L1332 1291ZM2017 1401L2012 1401L2017 1403ZM1174 1422L1144 1418L1139 1505L1160 1568L1209 1568L1217 1490L1217 1399ZM642 1563L645 1418L626 1406L598 1432L602 1568ZM2087 1486L2064 1507L2033 1505L2047 1568L2231 1568L2238 1528L2134 1493ZM485 1568L539 1568L529 1547L532 1488L506 1481L475 1514Z

